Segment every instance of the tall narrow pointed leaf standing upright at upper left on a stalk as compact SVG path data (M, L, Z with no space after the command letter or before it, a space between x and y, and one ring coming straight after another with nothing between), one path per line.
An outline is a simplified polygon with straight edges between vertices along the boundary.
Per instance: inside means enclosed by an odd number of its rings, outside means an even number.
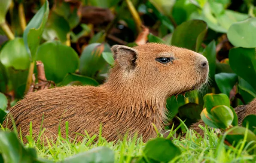
M31 60L35 59L48 15L49 2L46 0L44 5L37 11L24 30L23 39Z

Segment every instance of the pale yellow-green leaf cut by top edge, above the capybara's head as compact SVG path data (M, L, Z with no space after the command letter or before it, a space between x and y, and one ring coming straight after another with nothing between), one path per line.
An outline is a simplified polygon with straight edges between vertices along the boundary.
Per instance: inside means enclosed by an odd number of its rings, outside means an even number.
M176 0L149 0L164 15L170 15Z

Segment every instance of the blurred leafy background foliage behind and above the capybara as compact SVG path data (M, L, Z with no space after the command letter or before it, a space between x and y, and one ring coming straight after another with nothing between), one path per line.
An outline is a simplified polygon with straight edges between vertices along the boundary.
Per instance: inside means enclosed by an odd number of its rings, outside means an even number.
M166 129L180 124L177 117L188 126L200 119L207 93L226 94L234 108L248 104L256 98L255 6L256 0L2 0L0 123L29 91L103 83L115 44L161 42L207 57L209 85L168 98Z

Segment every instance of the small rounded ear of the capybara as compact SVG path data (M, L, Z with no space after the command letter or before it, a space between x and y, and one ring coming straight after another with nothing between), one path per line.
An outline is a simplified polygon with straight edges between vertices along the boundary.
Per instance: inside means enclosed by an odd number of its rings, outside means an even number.
M137 50L125 45L113 45L111 50L114 59L125 69L133 69L136 66Z

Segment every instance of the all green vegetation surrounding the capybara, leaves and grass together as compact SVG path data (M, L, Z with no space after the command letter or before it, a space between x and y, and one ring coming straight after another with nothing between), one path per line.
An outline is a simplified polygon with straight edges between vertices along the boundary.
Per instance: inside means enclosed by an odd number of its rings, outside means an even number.
M114 44L191 49L207 57L210 80L204 90L168 98L167 138L114 144L85 132L75 142L67 123L66 138L41 145L32 129L18 139L17 130L1 125L0 162L255 162L256 115L238 126L233 109L256 98L255 6L255 0L1 1L0 124L27 92L103 83ZM187 128L200 118L212 127L202 127L204 138Z

